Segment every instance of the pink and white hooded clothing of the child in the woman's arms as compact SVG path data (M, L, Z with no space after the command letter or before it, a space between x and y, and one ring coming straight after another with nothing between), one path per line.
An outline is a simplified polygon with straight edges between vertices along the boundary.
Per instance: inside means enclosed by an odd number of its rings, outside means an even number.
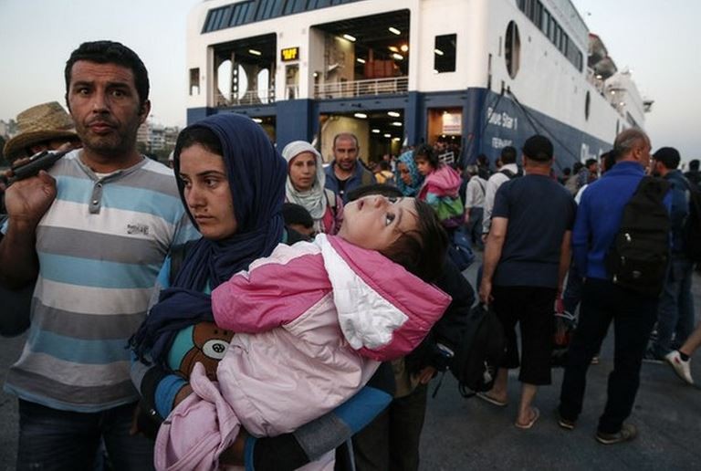
M217 369L230 409L211 393L202 398L208 405L179 404L159 432L156 466L192 468L193 453L203 464L216 463L235 438L231 414L249 433L270 436L330 412L362 388L378 361L417 347L449 303L438 288L340 237L277 246L212 293L217 325L236 332ZM195 393L206 381L193 384ZM182 433L199 427L217 435L211 432L217 423L225 427L208 446Z

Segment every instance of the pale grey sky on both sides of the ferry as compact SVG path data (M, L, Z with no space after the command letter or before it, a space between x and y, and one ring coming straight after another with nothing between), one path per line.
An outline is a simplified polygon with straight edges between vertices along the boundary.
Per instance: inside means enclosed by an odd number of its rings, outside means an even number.
M233 0L232 0L233 1ZM374 0L382 1L382 0ZM186 18L200 0L0 0L0 120L45 101L63 103L63 68L87 40L134 49L149 69L152 119L185 124ZM654 99L653 148L701 158L701 18L698 0L573 0L619 68Z

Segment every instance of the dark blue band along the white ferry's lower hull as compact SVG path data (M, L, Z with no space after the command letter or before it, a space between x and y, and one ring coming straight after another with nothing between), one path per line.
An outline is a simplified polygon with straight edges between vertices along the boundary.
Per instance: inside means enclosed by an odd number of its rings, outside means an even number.
M304 129L300 128L299 120L290 120L288 113L281 112L281 110L290 110L289 106L281 105L282 103L284 102L278 101L275 105L268 106L265 111L261 110L261 107L246 106L226 109L190 109L188 124L210 114L232 111L250 116L277 116L277 145L280 147L292 139L313 136L315 131L318 131L315 123L319 122L320 114L348 114L349 110L355 108L403 109L406 137L410 144L416 144L427 141L429 110L460 108L463 112L463 163L475 162L480 153L485 153L491 162L495 162L503 147L513 145L519 149L523 142L535 133L543 134L553 142L556 156L555 170L559 173L562 169L571 167L574 162L596 157L612 147L611 142L597 139L537 110L520 107L516 101L507 96L499 99L498 93L488 89L472 88L434 93L410 91L403 95L354 99L310 99L309 104L305 104L310 107L311 112ZM488 124L487 111L490 107L494 109L492 117L495 121ZM500 117L498 123L497 116Z

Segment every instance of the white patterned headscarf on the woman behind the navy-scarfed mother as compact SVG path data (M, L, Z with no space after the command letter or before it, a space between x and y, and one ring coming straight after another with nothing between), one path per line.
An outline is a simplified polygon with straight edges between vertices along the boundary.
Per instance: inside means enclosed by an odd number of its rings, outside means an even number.
M289 163L302 152L311 152L317 162L317 177L314 183L311 184L311 189L306 192L300 192L292 184L289 179ZM324 173L324 165L321 162L321 154L314 149L309 142L292 141L282 150L282 156L288 161L288 182L285 183L285 197L289 203L299 204L304 206L315 221L319 221L326 213L326 195L324 194L324 184L326 183L326 173Z

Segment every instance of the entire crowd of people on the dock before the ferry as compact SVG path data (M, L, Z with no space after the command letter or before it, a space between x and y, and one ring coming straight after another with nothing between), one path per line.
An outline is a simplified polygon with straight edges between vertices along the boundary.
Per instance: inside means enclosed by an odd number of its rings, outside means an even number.
M16 165L68 152L5 193L0 282L34 286L5 382L19 403L17 469L417 469L427 384L477 297L507 339L478 395L506 406L520 368L519 429L537 423L551 382L558 299L580 306L562 428L576 426L611 322L600 443L636 436L626 421L643 358L693 383L701 327L685 230L701 175L698 161L677 170L673 148L651 160L643 131L616 137L601 175L594 160L559 181L541 135L520 154L504 148L495 172L480 156L461 174L428 145L371 172L352 133L334 137L324 167L309 142L277 152L227 113L185 128L169 169L137 151L151 104L129 47L80 45L65 80L69 114L26 110L5 145ZM607 259L648 183L664 189L669 240L656 293L623 286ZM478 296L455 256L460 234L484 250Z

